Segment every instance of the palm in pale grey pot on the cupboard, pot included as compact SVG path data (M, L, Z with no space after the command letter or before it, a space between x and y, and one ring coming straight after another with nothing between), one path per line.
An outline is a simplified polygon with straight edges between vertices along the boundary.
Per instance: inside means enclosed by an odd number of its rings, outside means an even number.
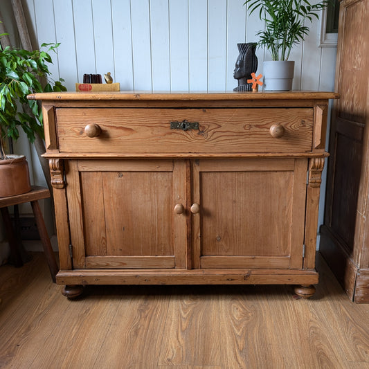
M246 0L250 14L259 10L259 17L265 22L265 29L256 35L259 46L265 46L272 61L264 62L264 89L285 91L292 88L294 61L289 54L294 45L300 44L309 34L307 21L319 18L319 12L329 0L310 3L308 0Z

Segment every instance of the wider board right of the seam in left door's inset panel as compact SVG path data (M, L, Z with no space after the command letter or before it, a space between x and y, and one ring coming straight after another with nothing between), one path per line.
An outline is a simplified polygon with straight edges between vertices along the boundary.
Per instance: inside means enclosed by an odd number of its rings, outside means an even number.
M107 254L173 255L172 172L105 172L102 184Z

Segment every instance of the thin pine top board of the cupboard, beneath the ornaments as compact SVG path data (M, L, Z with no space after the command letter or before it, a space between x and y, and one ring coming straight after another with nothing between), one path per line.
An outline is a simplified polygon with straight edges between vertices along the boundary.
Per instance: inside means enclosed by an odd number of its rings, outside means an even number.
M270 92L44 92L28 95L28 100L324 100L339 98L338 93L323 91Z

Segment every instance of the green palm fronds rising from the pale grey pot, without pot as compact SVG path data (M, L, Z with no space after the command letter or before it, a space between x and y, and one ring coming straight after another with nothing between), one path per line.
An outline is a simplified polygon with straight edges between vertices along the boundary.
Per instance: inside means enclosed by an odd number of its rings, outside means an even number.
M319 18L318 12L328 1L310 3L307 0L246 0L250 14L259 10L259 17L265 21L265 30L256 35L260 37L259 46L265 46L274 61L288 60L291 48L303 41L309 34L306 21Z

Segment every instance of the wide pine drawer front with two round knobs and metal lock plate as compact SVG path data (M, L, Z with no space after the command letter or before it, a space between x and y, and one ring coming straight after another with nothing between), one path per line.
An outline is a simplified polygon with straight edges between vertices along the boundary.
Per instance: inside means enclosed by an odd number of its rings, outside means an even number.
M311 108L59 108L56 120L59 150L68 153L237 154L312 150ZM188 127L188 123L198 123L198 127ZM171 129L171 125L177 129Z

